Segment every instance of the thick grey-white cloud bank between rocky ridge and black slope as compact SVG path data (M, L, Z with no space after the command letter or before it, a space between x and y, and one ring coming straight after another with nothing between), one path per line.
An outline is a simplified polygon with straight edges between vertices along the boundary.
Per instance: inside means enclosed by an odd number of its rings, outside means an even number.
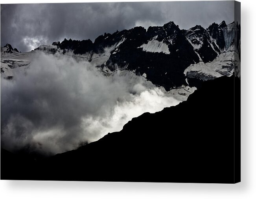
M1 77L1 146L52 155L179 102L131 71L105 76L89 62L38 52L26 73Z

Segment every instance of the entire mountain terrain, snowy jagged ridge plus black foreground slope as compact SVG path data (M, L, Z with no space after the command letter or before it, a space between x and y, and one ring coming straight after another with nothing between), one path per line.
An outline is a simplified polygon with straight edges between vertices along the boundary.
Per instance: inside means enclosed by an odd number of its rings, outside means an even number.
M29 67L41 51L86 60L104 75L143 76L187 100L133 118L119 132L52 157L1 149L1 179L236 183L240 181L240 24L180 29L174 22L64 39L19 52L1 47L1 76ZM189 95L189 96L188 96ZM234 155L236 152L236 155Z

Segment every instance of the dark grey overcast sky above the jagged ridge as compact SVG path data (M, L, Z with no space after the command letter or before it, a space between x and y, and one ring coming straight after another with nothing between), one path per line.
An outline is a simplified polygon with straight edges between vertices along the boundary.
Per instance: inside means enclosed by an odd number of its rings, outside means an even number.
M234 21L234 1L1 4L1 46L20 51L64 38L94 39L118 29L163 26L180 29Z

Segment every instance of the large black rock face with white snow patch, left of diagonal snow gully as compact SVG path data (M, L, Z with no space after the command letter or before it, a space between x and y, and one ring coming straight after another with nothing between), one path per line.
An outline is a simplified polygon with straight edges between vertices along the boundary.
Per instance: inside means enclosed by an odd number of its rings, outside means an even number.
M101 68L116 68L145 73L148 80L166 90L186 85L184 69L199 62L197 53L173 22L162 27L134 27L104 34L91 40L53 42L64 53L73 51L88 57ZM105 59L103 59L105 57ZM95 61L95 60L99 60Z

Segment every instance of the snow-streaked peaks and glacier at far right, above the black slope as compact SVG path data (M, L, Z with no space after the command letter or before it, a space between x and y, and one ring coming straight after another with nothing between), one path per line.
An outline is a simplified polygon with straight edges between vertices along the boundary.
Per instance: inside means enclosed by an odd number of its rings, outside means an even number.
M183 32L201 57L199 63L185 69L188 82L230 76L235 68L240 74L240 25L235 22L227 25L223 21L219 25L213 23L207 29L195 26Z

